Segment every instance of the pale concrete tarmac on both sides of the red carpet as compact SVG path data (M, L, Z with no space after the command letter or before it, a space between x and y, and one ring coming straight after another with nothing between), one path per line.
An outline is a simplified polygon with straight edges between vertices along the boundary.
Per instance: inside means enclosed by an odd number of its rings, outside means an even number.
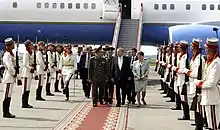
M174 103L166 102L158 90L160 88L159 76L151 67L149 74L149 86L147 88L147 106L137 108L131 105L128 110L127 130L193 130L193 120L178 121L182 111L173 111L170 108ZM45 89L42 96L46 101L36 101L35 91L37 81L32 81L31 96L29 104L34 108L21 108L22 87L14 87L11 102L11 113L16 115L15 119L2 118L0 112L0 130L52 130L58 129L65 123L67 118L74 113L82 104L89 100L84 97L81 87L81 80L72 79L70 83L70 100L64 101L62 93L54 93L55 96L45 96ZM4 84L0 84L0 100L4 93ZM52 90L52 92L54 92ZM2 105L2 104L1 104ZM2 111L2 107L0 108ZM194 119L191 113L191 119Z

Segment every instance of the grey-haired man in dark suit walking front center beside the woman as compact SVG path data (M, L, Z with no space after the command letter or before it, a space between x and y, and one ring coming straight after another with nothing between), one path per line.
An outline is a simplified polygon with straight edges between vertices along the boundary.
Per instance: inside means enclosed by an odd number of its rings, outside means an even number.
M130 63L128 57L123 56L124 49L117 49L117 57L112 62L112 77L116 84L116 107L120 107L121 104L125 104L125 98L127 94L127 82L130 77ZM122 97L120 90L122 90Z

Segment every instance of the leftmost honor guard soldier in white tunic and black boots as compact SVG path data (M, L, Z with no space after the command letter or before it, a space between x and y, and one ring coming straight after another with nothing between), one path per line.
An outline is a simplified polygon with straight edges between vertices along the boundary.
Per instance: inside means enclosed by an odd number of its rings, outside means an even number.
M3 74L3 83L6 84L3 97L3 117L15 118L15 115L9 112L11 95L16 83L15 56L12 52L14 49L14 41L12 38L5 39L6 52L3 56L3 65L5 71Z

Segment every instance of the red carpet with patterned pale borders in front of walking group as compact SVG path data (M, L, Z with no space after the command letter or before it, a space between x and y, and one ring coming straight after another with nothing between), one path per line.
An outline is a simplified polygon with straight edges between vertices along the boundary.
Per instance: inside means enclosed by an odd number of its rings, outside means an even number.
M92 106L92 102L85 103L64 130L126 130L128 121L128 107L113 107L108 105Z

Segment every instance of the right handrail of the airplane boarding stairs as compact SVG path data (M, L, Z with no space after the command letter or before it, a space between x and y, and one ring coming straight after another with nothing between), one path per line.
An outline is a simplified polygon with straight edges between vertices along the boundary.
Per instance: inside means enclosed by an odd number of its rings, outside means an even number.
M138 26L138 38L137 38L137 50L140 51L141 38L142 38L142 28L143 28L143 3L141 3L141 11Z

